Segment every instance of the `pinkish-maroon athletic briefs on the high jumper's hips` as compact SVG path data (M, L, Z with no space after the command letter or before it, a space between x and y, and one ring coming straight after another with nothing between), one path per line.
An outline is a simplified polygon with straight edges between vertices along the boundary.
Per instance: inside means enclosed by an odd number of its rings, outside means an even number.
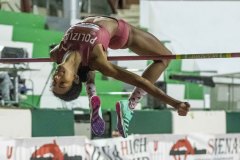
M117 21L118 21L117 32L111 38L109 43L109 48L111 49L123 48L128 41L130 26L124 20L120 19Z

